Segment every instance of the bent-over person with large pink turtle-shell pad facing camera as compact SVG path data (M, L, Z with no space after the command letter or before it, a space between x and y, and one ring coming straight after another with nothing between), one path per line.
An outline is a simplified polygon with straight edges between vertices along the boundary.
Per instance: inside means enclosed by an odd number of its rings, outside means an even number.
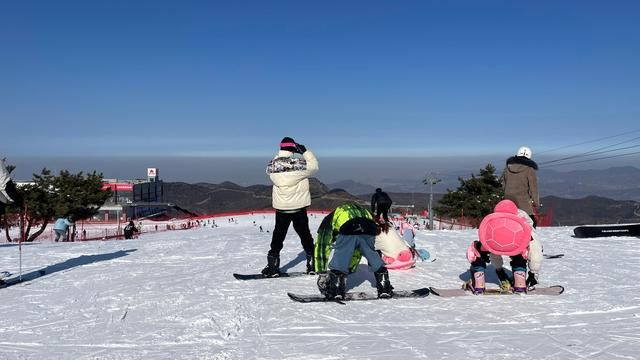
M518 208L513 201L502 200L495 206L492 214L482 219L478 230L480 241L474 241L467 248L467 260L471 263L471 290L475 294L484 292L484 273L487 263L492 260L490 254L511 257L513 291L526 291L526 259L529 256L532 228L517 214Z

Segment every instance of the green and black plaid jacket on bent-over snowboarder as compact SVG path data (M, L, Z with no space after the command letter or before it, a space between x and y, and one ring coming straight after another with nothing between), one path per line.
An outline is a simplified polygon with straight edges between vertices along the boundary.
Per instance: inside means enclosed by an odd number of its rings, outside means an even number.
M373 215L362 206L347 203L338 206L322 219L320 227L318 228L318 236L316 237L313 252L316 272L324 273L327 271L329 256L331 255L331 246L336 241L336 236L340 233L340 228L349 220L356 218L373 220ZM349 272L356 271L361 258L362 254L360 253L360 249L356 249L351 258Z

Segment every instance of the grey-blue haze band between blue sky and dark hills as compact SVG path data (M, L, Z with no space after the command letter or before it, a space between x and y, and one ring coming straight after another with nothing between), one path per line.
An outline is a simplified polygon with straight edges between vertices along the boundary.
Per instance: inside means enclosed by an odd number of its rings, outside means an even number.
M415 182L421 189L421 180L435 173L443 183L435 191L445 190L457 177L468 177L487 164L502 171L508 156L469 157L323 157L318 156L320 171L316 174L323 183L352 180L373 186L391 183ZM8 157L7 163L16 165L13 178L28 181L33 173L47 168L54 173L62 169L71 172L101 172L107 179L144 179L148 167L158 168L160 179L167 182L214 183L231 181L242 186L270 184L265 174L265 165L271 156L264 157ZM552 168L554 171L605 169L615 166L633 166L635 159L612 159L615 161L578 164ZM624 160L624 161L623 161ZM416 190L418 191L418 190ZM426 191L426 186L424 186Z

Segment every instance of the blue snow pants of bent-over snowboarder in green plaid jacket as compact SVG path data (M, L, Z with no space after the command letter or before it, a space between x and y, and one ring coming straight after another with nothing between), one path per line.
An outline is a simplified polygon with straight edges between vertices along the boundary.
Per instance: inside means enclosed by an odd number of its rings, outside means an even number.
M373 235L338 234L336 242L333 244L333 255L329 261L329 269L348 274L353 252L355 249L360 249L362 255L367 259L369 269L372 272L378 271L384 266L384 263L380 254L375 250L375 239L376 237Z

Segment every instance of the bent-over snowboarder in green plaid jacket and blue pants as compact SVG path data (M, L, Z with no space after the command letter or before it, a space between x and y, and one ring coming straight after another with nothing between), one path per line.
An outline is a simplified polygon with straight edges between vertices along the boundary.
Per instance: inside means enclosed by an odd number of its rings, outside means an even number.
M325 297L344 298L347 274L356 270L361 255L375 275L378 296L393 296L389 272L375 250L376 232L373 215L353 203L338 206L322 220L315 246L315 266L321 273L318 289ZM332 248L333 256L329 260Z

